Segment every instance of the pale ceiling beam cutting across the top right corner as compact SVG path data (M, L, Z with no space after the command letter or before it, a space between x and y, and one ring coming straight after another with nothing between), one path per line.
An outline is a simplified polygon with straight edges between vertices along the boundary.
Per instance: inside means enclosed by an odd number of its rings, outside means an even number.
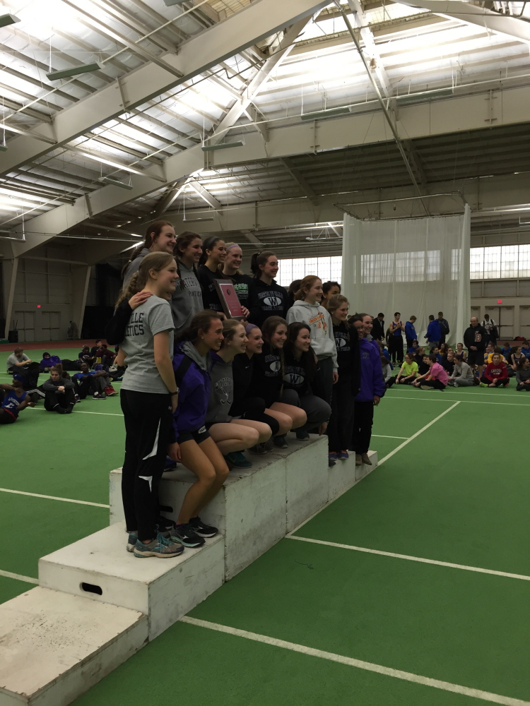
M469 2L462 0L398 1L409 7L423 7L449 20L459 20L467 25L478 25L490 32L499 32L502 35L516 37L522 42L530 42L530 23L528 21L510 15L501 15Z

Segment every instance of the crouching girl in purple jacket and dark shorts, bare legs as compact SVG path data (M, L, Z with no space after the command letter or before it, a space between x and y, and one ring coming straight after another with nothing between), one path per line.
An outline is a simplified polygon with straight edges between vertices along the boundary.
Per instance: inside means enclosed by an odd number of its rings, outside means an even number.
M177 409L173 412L175 441L169 453L182 461L197 477L188 489L173 525L171 541L184 546L201 546L204 537L214 537L216 527L201 521L199 513L220 491L228 477L228 466L206 430L210 399L210 352L217 353L223 342L223 321L218 311L199 311L187 330L177 338L173 371L179 388Z

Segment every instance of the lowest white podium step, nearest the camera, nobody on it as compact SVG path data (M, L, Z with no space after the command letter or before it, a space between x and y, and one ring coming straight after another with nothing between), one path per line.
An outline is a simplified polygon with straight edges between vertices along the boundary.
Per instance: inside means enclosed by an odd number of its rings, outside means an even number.
M138 611L34 588L0 605L0 704L66 706L147 639Z

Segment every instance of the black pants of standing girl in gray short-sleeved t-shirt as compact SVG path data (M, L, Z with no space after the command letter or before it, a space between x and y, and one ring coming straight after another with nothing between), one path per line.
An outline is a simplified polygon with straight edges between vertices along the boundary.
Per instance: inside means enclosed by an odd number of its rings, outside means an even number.
M128 532L141 540L156 537L158 484L170 443L170 395L120 390L125 422L122 500Z

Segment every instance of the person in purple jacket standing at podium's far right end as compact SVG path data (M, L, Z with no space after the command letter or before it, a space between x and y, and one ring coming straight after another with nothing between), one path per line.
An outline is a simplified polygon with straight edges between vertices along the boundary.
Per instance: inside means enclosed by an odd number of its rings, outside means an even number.
M365 338L363 319L357 314L351 318L357 329L360 347L360 391L355 395L351 448L355 451L355 465L371 466L368 449L372 438L374 407L385 393L383 370L379 351Z

